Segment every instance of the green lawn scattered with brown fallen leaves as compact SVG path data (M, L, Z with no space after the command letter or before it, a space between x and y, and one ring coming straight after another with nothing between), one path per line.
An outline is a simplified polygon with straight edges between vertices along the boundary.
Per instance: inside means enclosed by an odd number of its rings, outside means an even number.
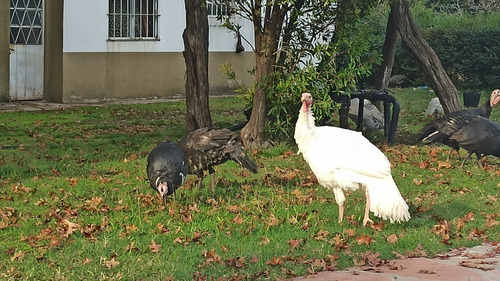
M362 264L368 253L389 259L421 245L433 256L500 240L500 161L488 157L485 170L475 161L460 170L456 157L445 165L447 148L414 142L433 94L396 97L398 144L379 146L412 218L375 219L377 227L360 225L362 192L348 196L338 224L333 193L291 144L252 153L258 174L218 166L215 191L194 188L190 176L163 204L145 159L184 135L183 102L0 113L0 279L275 280ZM245 119L241 99L214 98L211 107L218 126Z

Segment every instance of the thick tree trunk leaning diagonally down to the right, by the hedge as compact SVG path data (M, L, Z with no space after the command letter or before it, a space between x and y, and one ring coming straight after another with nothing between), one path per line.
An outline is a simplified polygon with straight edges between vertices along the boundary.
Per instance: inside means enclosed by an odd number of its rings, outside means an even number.
M407 0L394 3L394 20L407 52L417 60L427 81L436 92L446 114L459 110L460 98L458 91L434 50L427 44L418 31L410 13Z

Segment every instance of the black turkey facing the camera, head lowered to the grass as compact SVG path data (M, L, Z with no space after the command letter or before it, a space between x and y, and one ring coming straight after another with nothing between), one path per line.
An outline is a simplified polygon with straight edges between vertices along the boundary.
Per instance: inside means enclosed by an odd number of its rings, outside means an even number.
M149 185L166 197L177 190L186 179L187 161L182 150L171 141L158 144L148 155Z

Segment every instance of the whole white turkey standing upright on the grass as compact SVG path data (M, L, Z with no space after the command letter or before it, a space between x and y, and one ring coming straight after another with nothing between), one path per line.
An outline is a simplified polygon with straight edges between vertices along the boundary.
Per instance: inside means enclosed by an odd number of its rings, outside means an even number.
M392 178L387 157L360 132L316 127L311 94L303 93L301 101L295 141L318 182L335 194L339 223L344 215L344 191L357 189L364 189L366 197L363 225L371 222L369 211L390 222L409 220L408 205Z

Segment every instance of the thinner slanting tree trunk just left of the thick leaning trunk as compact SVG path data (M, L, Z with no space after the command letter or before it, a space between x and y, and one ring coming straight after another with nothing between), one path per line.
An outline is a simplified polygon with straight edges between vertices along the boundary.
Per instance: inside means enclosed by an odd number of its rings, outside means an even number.
M382 65L376 75L375 88L380 90L386 89L389 86L396 47L398 46L398 28L394 19L395 6L396 4L392 4L387 20L384 47L382 49Z

